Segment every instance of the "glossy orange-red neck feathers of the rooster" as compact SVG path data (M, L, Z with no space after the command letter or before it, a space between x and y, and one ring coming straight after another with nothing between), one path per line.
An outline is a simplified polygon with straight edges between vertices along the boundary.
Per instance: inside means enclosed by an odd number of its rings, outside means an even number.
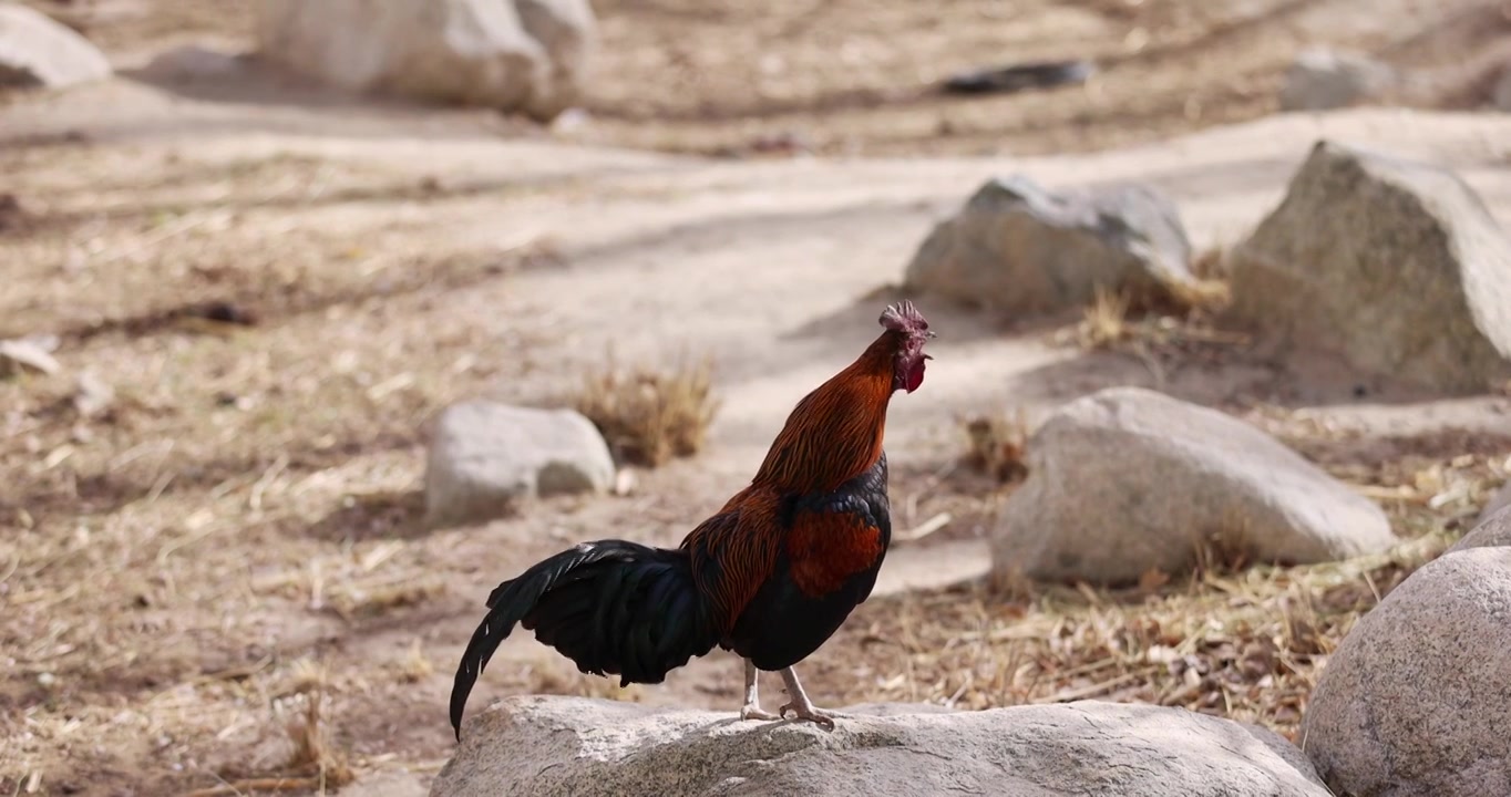
M828 492L870 469L881 457L899 343L899 334L884 332L798 402L754 483L778 492Z

